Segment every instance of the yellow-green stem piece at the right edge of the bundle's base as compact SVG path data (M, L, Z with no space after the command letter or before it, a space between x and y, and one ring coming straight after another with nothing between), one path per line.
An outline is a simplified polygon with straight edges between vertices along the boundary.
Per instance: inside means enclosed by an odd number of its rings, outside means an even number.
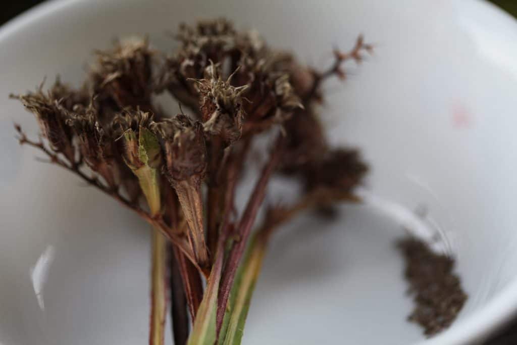
M251 297L262 268L266 247L267 238L260 233L255 235L232 286L229 310L224 316L219 345L239 345L242 340Z

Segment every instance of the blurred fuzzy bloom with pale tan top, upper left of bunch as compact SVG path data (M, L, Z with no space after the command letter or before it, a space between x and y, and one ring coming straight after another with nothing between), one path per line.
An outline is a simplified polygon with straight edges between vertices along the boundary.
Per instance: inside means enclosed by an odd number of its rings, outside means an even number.
M147 39L130 38L96 54L91 79L100 101L111 100L120 109L140 106L148 110L153 92L153 52Z

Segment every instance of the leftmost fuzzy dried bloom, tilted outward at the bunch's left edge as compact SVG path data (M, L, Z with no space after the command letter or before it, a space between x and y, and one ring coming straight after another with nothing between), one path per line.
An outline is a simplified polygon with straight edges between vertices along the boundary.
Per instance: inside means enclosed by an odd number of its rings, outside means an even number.
M66 124L66 108L71 109L76 101L83 102L84 91L74 91L62 84L59 79L47 93L44 93L42 88L43 84L35 93L11 95L11 97L19 99L24 107L36 116L41 134L49 141L53 151L62 153L69 162L75 163L73 131Z

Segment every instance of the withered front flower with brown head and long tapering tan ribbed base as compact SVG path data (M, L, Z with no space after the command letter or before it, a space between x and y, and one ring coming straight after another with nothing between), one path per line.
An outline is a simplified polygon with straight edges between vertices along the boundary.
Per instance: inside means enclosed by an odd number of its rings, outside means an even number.
M203 125L178 114L170 120L154 124L164 142L165 175L176 190L189 226L189 241L197 262L209 264L205 244L201 183L205 178L207 153Z

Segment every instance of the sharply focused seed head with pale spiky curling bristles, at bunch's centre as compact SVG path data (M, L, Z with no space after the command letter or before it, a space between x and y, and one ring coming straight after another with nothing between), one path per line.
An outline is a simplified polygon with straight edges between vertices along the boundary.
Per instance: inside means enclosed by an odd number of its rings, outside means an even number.
M231 78L221 79L220 67L212 64L206 68L204 79L195 80L200 93L203 128L219 136L226 145L240 138L244 121L242 93L248 88L248 85L232 86Z

